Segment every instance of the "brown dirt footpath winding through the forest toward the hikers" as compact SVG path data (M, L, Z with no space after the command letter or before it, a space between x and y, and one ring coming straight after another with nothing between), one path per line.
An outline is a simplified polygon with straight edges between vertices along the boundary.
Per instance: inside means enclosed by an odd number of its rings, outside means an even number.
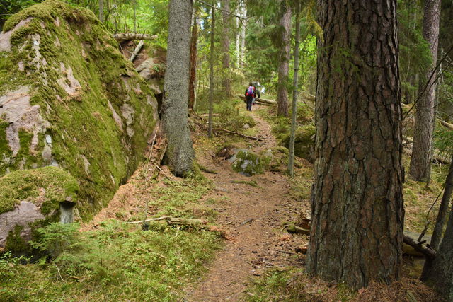
M256 112L248 114L256 120L260 137L265 138L265 142L254 144L253 151L277 146L270 124ZM197 159L217 171L214 175L205 173L216 187L205 198L217 200L211 207L219 213L217 224L231 240L217 254L205 279L195 289L186 291L186 301L241 301L251 277L260 276L268 268L301 266L294 248L305 245L307 240L287 233L282 224L297 221L307 205L290 197L287 175L266 172L248 178L234 172L231 163L214 158L208 151L198 153ZM260 187L232 183L233 180L253 180Z

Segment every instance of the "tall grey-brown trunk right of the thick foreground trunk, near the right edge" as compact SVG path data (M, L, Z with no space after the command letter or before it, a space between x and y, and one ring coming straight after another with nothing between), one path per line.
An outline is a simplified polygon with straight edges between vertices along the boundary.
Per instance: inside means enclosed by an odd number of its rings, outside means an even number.
M426 0L423 15L423 37L430 44L432 64L425 74L420 76L418 93L422 93L425 83L430 78L437 64L437 41L439 40L440 0ZM415 105L415 129L411 178L418 181L429 181L432 162L432 130L434 129L435 112L435 76L432 76L428 88Z

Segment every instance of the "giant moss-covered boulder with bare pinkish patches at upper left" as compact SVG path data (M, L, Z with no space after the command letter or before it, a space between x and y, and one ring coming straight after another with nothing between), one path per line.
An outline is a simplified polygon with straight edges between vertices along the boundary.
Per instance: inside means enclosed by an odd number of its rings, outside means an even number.
M90 219L144 159L154 93L88 9L47 0L0 33L0 176L52 165Z

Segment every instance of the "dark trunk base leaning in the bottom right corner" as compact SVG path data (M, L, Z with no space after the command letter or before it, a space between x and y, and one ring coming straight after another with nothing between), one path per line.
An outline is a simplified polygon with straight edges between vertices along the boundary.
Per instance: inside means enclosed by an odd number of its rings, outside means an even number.
M423 280L435 286L445 301L453 301L453 209L445 230L445 236L440 244L432 265L425 267Z

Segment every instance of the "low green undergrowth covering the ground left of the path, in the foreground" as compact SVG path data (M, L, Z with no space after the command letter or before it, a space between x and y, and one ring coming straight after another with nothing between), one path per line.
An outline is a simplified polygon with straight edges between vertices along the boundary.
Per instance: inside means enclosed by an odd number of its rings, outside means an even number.
M75 228L45 228L36 244L52 248L64 243L66 249L50 263L17 266L8 278L0 278L0 300L66 301L77 296L84 301L177 301L219 248L215 233L160 223L152 223L150 231L116 221L102 223L96 231L79 233ZM0 267L6 265L0 259Z

